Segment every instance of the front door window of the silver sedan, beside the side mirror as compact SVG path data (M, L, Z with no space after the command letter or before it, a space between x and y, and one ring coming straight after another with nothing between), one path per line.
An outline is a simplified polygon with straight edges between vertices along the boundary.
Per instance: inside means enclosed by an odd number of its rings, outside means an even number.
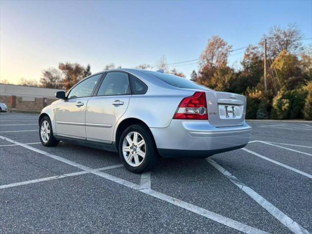
M87 78L75 86L69 93L69 98L81 98L81 97L89 97L92 95L92 91L96 84L98 83L98 79L102 76L102 74Z

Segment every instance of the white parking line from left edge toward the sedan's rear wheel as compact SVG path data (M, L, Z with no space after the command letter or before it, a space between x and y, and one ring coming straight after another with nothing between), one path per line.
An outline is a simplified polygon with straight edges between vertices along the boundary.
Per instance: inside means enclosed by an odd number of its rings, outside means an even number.
M92 171L103 171L103 170L108 170L108 169L117 168L117 167L123 167L123 165L117 164L117 165L113 165L113 166L101 167L98 169L93 169ZM60 179L60 178L65 178L65 177L69 177L69 176L78 176L78 175L83 175L83 174L88 174L88 173L91 173L91 171L80 171L80 172L63 174L60 176L49 176L49 177L44 177L44 178L39 178L39 179L26 180L26 181L12 183L12 184L0 185L0 189L12 188L12 187L20 186L20 185L33 184L33 183L49 181L49 180L53 180L53 179Z

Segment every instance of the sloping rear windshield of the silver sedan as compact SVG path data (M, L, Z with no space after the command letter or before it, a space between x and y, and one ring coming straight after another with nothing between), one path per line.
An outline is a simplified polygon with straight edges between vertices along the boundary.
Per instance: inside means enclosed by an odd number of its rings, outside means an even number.
M171 74L166 73L160 73L160 72L148 72L150 75L161 79L162 81L171 84L178 88L183 89L200 89L200 90L211 90L210 88L207 88L205 86L202 86L200 84L197 84L193 82L192 80L189 80L187 78L182 78L178 76L174 76Z

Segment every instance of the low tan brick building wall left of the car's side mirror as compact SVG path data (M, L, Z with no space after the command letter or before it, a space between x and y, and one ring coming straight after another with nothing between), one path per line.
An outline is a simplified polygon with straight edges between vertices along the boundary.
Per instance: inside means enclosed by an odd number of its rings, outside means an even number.
M46 98L46 105L44 105L43 98L16 97L16 106L13 108L11 104L11 96L0 95L0 102L6 104L8 111L40 112L44 106L50 105L56 100L57 99Z

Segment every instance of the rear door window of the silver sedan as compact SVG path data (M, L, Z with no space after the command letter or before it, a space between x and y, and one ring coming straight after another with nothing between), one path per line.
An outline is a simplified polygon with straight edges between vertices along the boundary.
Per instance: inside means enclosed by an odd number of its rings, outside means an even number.
M99 86L97 96L131 94L128 74L109 72Z

